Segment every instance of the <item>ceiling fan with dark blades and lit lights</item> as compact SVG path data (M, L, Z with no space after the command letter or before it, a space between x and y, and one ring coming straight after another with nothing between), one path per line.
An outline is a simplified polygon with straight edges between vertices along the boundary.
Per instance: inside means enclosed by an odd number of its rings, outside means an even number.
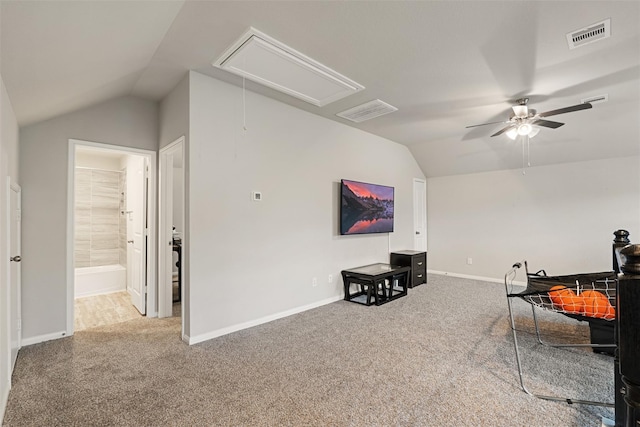
M494 125L497 123L506 123L507 126L503 127L491 136L493 137L506 133L507 136L511 139L516 139L518 135L527 135L529 136L529 138L533 138L540 131L540 128L534 126L543 126L551 129L557 129L560 126L564 125L564 123L544 120L544 117L571 113L573 111L587 110L593 107L589 102L585 102L583 104L577 104L570 107L559 108L557 110L546 111L544 113L538 113L533 108L527 107L529 98L521 98L516 102L518 103L518 105L514 105L511 107L513 109L513 116L511 116L509 120L471 125L467 126L467 128Z

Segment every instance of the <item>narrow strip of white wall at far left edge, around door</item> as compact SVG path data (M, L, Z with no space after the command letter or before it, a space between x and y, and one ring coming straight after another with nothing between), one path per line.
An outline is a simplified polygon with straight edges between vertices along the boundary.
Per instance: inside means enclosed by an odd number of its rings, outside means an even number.
M9 229L7 227L7 183L18 183L18 123L0 76L0 419L11 388L11 290L7 271Z

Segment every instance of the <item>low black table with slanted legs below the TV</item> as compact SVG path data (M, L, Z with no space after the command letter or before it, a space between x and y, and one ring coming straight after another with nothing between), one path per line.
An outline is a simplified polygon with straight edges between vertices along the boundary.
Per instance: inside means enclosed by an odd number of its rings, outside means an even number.
M411 267L371 264L342 270L344 300L364 305L384 304L407 295ZM355 292L351 286L355 285Z

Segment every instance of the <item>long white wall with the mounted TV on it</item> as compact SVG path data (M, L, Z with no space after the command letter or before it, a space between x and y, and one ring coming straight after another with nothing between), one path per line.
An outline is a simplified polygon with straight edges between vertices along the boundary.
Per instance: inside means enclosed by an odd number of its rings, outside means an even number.
M243 134L242 98L191 73L191 342L342 298L342 269L413 248L412 180L424 175L405 146L251 92ZM390 248L387 234L339 235L341 178L395 187Z

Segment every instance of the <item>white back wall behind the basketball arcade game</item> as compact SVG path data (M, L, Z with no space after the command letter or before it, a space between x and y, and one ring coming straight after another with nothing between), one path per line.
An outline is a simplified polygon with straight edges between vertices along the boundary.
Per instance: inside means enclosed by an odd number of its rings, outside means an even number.
M523 259L554 275L611 270L613 232L640 241L639 165L631 157L429 178L428 268L496 279Z

